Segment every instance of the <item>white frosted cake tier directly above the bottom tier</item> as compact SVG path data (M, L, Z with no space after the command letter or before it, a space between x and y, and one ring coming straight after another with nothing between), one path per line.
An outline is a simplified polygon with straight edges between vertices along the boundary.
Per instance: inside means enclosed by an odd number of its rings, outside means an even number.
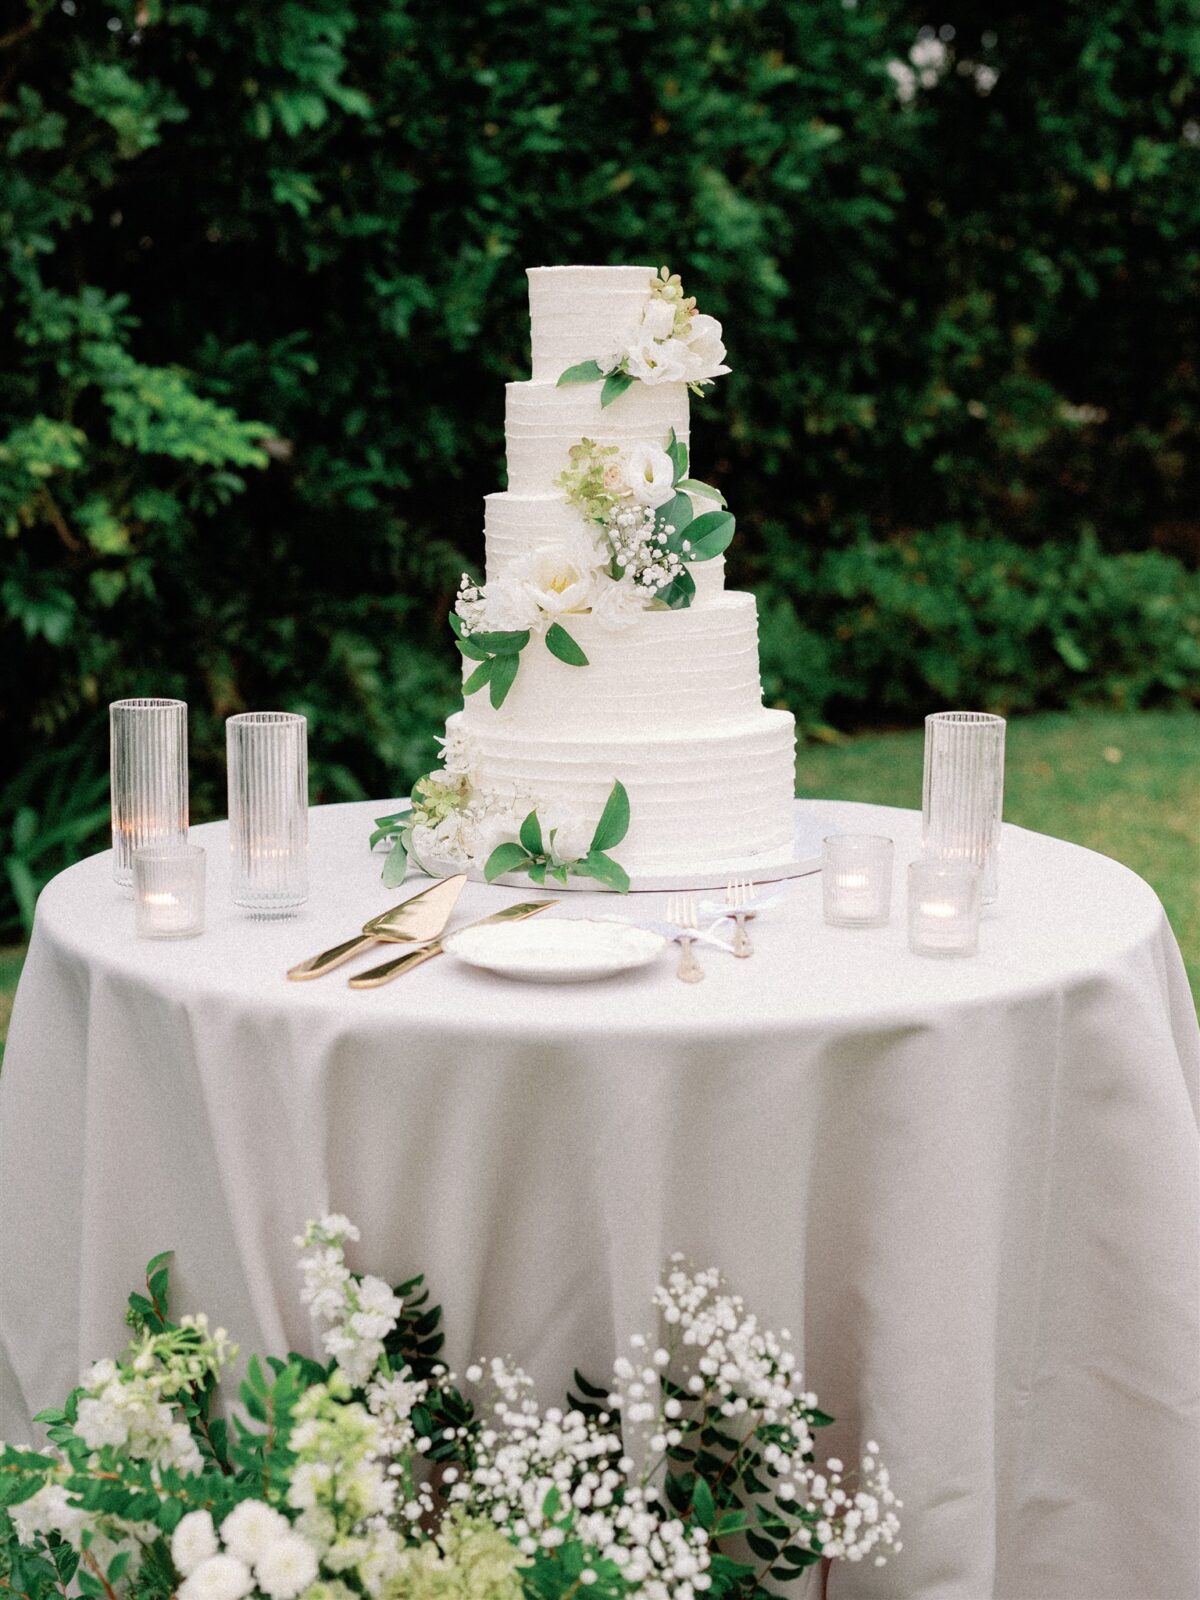
M472 734L478 728L514 734L562 728L654 738L744 722L762 706L754 595L723 594L686 611L646 611L619 630L594 616L565 616L562 626L589 664L570 667L544 640L531 638L499 710L486 690L469 696ZM464 659L464 678L475 666Z

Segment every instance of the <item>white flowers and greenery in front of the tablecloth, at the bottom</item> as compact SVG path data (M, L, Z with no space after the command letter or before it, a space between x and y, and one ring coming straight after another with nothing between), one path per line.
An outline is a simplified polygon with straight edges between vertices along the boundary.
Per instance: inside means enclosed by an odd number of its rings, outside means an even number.
M24 1600L768 1600L821 1560L899 1552L869 1442L853 1480L814 1462L829 1418L787 1333L672 1258L608 1384L541 1408L506 1362L438 1360L421 1278L346 1262L342 1216L296 1242L325 1365L251 1358L213 1416L224 1331L170 1322L165 1258L130 1298L134 1342L93 1368L50 1448L0 1446L0 1578ZM86 1402L96 1406L83 1413ZM165 1408L170 1421L158 1416ZM149 1421L147 1421L149 1413ZM128 1426L126 1426L128 1422ZM174 1432L178 1430L178 1434ZM181 1445L182 1435L190 1442Z

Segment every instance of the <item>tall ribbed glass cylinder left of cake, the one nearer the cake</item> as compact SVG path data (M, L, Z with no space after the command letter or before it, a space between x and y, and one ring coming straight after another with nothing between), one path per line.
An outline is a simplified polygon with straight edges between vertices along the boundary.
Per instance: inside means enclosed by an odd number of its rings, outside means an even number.
M234 904L290 917L309 898L309 725L286 710L226 723Z

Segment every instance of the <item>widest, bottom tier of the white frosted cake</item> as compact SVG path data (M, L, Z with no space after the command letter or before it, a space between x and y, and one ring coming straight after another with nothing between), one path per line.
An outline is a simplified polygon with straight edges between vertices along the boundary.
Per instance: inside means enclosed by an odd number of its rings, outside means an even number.
M477 781L530 797L546 811L598 818L614 781L629 794L629 832L613 854L626 869L701 872L787 853L794 837L795 718L758 709L709 733L544 738L448 723L469 733Z

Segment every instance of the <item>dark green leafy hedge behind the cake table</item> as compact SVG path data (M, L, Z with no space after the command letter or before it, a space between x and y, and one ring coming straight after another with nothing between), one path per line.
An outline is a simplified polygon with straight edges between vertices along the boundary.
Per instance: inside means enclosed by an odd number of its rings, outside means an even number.
M430 765L528 264L725 322L694 459L803 723L1197 694L1194 0L5 18L10 922L102 835L117 696L189 701L197 814L248 706L309 714L317 800Z

